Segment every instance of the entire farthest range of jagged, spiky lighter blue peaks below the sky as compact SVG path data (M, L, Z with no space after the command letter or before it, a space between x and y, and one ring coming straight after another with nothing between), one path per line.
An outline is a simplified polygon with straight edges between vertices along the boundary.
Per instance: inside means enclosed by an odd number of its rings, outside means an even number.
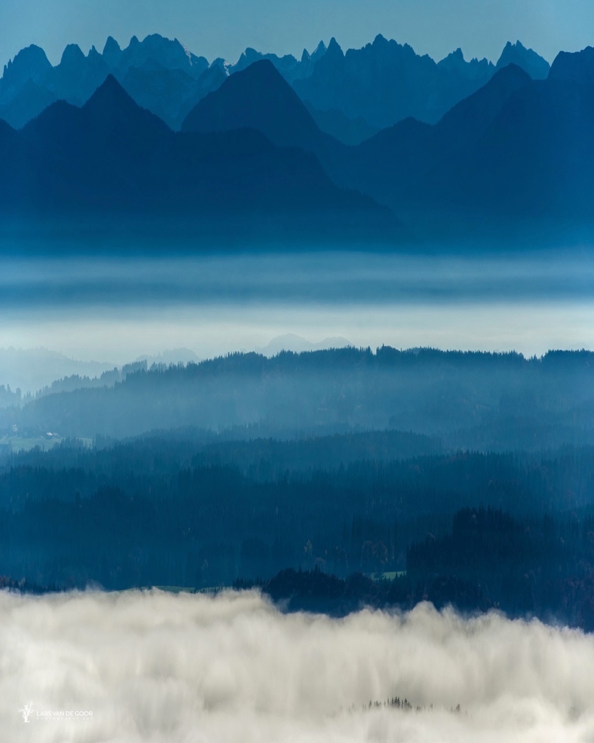
M532 50L508 43L496 65L486 59L466 62L462 51L441 62L414 53L408 45L376 36L373 44L342 52L336 39L320 42L301 59L247 48L235 64L187 51L177 39L151 34L128 47L111 36L99 53L85 56L68 45L53 67L45 52L31 45L4 66L0 79L0 118L20 129L54 100L82 106L108 74L143 108L172 129L211 91L253 62L268 59L293 86L319 127L347 144L355 144L412 116L435 123L451 106L484 85L497 69L514 63L534 79L546 77L549 65Z

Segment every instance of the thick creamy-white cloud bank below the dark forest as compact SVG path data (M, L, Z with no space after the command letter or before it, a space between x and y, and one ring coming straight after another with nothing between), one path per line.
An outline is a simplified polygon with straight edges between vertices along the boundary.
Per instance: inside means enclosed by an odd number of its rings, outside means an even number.
M577 743L593 669L591 635L427 604L333 620L255 592L0 593L11 742ZM425 710L368 709L395 696Z

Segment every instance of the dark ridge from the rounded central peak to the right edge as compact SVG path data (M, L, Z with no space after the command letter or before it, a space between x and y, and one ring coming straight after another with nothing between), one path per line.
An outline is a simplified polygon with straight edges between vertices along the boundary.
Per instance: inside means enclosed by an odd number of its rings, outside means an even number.
M226 80L183 131L258 129L314 152L336 184L398 212L589 220L594 200L594 51L563 53L546 80L507 65L437 124L407 118L347 147L316 126L267 60Z

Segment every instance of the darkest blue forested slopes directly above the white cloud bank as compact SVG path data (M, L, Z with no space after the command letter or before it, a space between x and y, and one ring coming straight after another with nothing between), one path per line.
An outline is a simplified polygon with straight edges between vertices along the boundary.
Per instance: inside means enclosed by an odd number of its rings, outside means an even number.
M394 443L396 456L407 441ZM10 455L0 586L209 588L289 568L266 585L289 608L342 614L428 598L594 629L594 447L410 456L414 443L408 458L379 461L369 437L344 465L347 436L287 441L278 459L269 441L236 442L232 463L233 442L166 435ZM308 470L300 460L313 448ZM402 571L391 583L370 577Z

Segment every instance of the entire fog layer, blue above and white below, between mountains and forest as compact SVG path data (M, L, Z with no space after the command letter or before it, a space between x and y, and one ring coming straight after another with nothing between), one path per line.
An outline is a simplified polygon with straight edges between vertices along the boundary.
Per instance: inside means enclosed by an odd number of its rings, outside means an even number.
M119 366L168 348L253 351L284 334L527 355L594 347L592 253L4 257L1 267L0 348ZM17 376L0 383L25 389Z

